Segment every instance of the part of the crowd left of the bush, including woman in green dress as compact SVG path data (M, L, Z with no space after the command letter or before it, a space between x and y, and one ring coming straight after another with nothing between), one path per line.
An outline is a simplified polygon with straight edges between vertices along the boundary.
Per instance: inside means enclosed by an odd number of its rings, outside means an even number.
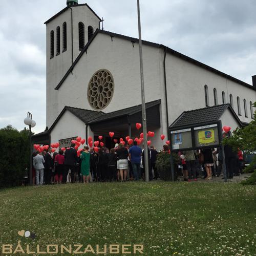
M168 152L168 146L164 145ZM65 154L64 154L65 153ZM156 169L157 150L152 145L148 148L148 167L150 180L158 179ZM75 144L65 152L59 150L52 154L52 148L33 155L33 179L36 185L61 183L125 182L144 179L144 150L137 141L133 145L116 144L115 148L89 148L84 146L80 156L77 155Z

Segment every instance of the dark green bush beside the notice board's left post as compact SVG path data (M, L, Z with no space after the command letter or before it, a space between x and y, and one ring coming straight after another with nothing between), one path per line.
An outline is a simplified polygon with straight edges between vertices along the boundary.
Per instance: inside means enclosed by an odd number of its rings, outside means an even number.
M173 153L174 157L174 171L175 180L177 179L177 164L179 157L177 154ZM157 154L156 168L159 173L159 178L163 181L172 180L172 172L170 168L170 154L167 152L160 152Z

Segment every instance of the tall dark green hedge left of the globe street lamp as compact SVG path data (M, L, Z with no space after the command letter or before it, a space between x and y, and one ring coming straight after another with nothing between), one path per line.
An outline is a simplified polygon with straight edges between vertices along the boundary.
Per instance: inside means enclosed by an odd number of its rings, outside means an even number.
M11 125L0 129L0 188L22 184L29 169L29 131Z

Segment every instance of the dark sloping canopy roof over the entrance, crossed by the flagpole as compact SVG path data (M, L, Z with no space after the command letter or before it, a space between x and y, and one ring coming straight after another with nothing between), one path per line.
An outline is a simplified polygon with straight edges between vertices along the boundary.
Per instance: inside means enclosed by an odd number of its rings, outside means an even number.
M146 109L151 108L152 106L155 105L159 105L161 103L161 99L158 100L154 100L151 102L147 102L146 103ZM130 108L126 108L126 109L122 109L122 110L117 110L114 112L110 112L110 113L106 113L101 115L100 117L92 120L89 122L89 124L93 124L93 123L97 123L97 122L101 122L101 121L106 121L112 118L118 118L121 116L131 116L134 115L138 112L141 112L141 104L140 105L136 105L136 106L131 106Z

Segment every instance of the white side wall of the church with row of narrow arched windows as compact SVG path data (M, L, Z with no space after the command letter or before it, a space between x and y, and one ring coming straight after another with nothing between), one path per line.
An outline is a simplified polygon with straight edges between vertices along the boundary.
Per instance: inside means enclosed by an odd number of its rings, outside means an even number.
M234 111L237 114L237 96L240 97L241 121L251 121L249 102L256 100L256 91L170 54L166 57L166 80L169 123L172 123L183 111L205 108L205 84L208 87L209 106L214 105L214 88L217 89L218 104L222 104L222 91L225 92L226 103L229 102L231 93ZM247 101L248 118L244 115L244 98Z

